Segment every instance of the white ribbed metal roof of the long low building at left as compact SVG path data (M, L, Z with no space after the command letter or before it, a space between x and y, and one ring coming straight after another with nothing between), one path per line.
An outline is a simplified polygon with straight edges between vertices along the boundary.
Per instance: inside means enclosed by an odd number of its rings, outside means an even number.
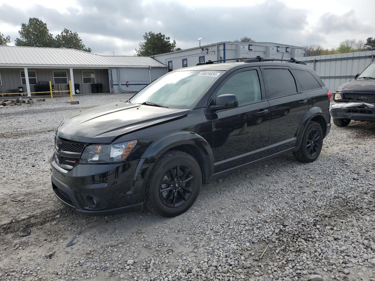
M105 56L75 49L0 46L0 66L166 67L151 57Z

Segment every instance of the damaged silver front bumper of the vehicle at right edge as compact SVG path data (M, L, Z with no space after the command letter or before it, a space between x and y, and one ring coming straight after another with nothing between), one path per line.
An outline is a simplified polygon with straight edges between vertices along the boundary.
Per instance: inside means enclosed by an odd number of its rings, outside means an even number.
M375 105L369 103L334 103L330 113L333 118L375 121Z

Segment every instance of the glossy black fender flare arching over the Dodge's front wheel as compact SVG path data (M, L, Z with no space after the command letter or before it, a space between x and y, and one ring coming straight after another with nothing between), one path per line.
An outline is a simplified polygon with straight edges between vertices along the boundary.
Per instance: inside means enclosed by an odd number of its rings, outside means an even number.
M201 166L203 170L203 180L208 181L213 173L214 163L213 152L210 144L202 136L196 133L180 131L164 136L148 146L136 167L133 185L136 185L137 183L141 184L145 190L151 170L157 162L157 159L166 151L178 145L193 145L198 148L197 151L200 153L199 156L203 160Z

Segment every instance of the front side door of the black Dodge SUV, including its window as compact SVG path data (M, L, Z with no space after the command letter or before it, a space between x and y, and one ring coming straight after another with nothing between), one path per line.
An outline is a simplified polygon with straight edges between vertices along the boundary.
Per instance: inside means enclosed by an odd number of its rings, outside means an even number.
M270 130L270 105L265 99L259 67L229 75L214 96L235 94L239 106L218 111L213 121L214 172L222 172L261 158ZM265 154L264 154L265 155Z

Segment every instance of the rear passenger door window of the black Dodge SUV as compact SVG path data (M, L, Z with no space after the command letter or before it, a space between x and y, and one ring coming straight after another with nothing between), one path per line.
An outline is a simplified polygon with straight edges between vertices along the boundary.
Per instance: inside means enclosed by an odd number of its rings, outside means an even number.
M264 69L263 73L268 99L297 93L296 81L288 69Z

